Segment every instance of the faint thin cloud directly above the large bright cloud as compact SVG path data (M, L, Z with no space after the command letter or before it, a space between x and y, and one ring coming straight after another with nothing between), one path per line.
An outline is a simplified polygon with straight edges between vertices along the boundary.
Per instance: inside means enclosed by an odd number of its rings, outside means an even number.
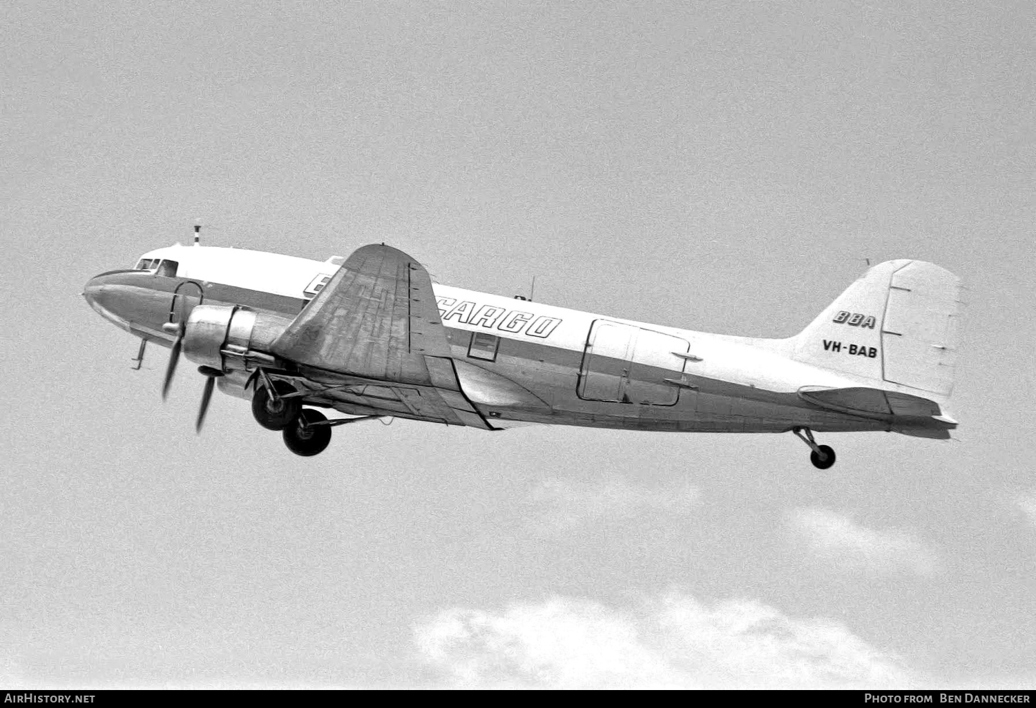
M534 490L531 500L552 525L571 528L601 519L631 519L645 512L681 513L698 500L689 483L672 490L636 486L621 477L593 481L548 479Z

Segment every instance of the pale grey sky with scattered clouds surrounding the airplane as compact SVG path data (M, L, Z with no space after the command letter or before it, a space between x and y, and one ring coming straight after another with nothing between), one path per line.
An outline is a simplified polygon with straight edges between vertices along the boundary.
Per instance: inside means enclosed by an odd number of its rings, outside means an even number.
M1036 687L1032 2L0 7L0 684ZM965 278L953 442L288 452L80 297L204 241L784 336Z

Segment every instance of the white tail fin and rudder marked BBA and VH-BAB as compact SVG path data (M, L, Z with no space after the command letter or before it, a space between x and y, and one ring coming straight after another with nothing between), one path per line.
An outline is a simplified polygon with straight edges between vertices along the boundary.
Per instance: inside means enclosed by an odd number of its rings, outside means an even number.
M959 290L956 275L931 263L881 263L793 337L793 357L949 397Z

